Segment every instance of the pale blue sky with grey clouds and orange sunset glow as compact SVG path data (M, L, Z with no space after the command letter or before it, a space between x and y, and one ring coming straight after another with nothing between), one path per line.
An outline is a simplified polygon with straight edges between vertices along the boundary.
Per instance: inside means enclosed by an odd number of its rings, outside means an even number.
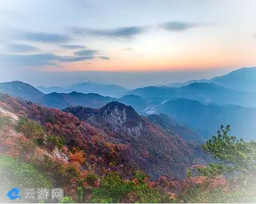
M254 0L1 0L0 81L127 88L256 66Z

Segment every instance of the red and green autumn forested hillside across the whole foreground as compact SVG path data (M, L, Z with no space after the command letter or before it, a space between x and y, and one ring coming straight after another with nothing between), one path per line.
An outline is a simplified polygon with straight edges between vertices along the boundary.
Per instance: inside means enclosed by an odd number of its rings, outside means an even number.
M229 136L229 126L221 127L203 145L214 164L191 165L180 179L165 174L152 178L132 157L134 144L119 140L124 132L111 135L110 130L94 127L71 113L6 94L0 95L0 107L1 202L11 202L6 200L6 191L13 186L61 186L65 190L61 201L45 201L55 203L255 202L256 143ZM120 107L131 109L115 102L88 110L95 114L95 121L104 124L106 116L113 117ZM142 126L150 124L136 112L130 113L125 127L135 125L135 120L130 121L134 118L143 121Z

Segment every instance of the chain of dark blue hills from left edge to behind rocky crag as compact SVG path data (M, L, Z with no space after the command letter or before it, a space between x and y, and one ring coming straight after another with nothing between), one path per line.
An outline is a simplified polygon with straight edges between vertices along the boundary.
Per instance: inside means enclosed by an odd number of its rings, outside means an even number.
M72 91L71 93L52 92L49 94L44 94L32 85L23 83L22 81L0 83L0 91L16 97L21 97L26 100L31 100L35 103L45 105L50 108L58 109L78 105L88 106L91 108L100 108L110 101L120 101L126 105L131 105L137 111L143 110L148 106L145 99L132 94L124 95L121 98L112 98L95 93L83 94L76 91Z

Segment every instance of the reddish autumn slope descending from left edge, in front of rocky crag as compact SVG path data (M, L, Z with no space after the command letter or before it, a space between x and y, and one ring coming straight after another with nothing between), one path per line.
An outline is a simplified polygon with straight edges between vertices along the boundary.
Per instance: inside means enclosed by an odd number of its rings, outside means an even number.
M91 203L100 177L116 171L132 178L137 168L129 144L72 114L0 94L0 122L0 186L6 189L62 187L65 196L75 197L81 186L87 194L80 202Z

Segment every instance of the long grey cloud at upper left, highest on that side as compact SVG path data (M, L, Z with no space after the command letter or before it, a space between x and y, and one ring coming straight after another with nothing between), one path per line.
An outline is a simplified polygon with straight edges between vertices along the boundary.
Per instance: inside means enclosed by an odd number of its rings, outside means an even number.
M40 43L67 43L70 42L68 35L44 32L16 32L14 38Z

